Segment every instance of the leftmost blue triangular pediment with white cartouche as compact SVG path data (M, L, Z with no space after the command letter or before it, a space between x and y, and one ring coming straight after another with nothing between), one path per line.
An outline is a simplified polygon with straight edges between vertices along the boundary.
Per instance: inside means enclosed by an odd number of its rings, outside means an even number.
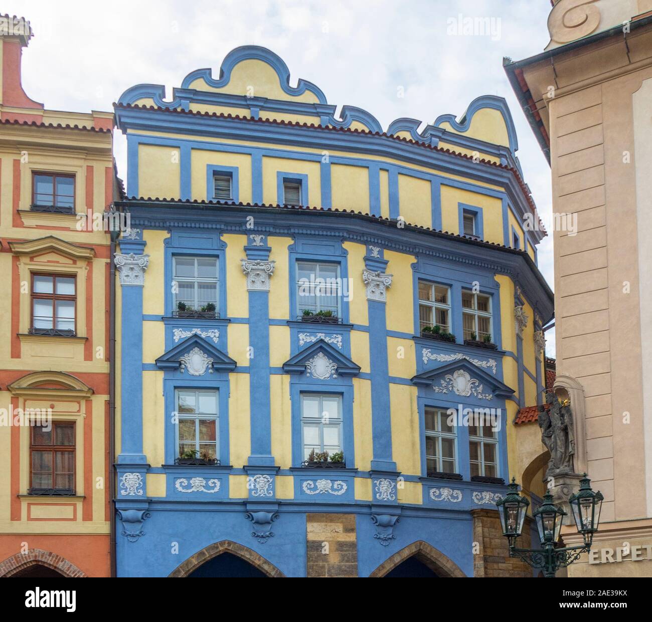
M178 369L190 376L233 371L237 363L198 335L192 335L156 359L158 369Z

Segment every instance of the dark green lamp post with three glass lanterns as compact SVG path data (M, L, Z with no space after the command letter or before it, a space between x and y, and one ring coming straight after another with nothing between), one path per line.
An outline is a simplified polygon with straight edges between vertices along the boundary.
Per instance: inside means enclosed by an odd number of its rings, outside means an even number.
M580 490L571 495L569 502L577 530L584 538L579 546L558 547L559 532L565 511L552 503L552 495L546 492L543 504L533 513L539 531L541 548L516 548L516 538L521 535L529 501L520 496L516 479L507 487L505 498L496 503L500 514L503 535L509 542L509 556L518 557L533 568L539 568L544 576L553 577L559 568L571 565L582 553L591 550L593 534L598 530L600 507L604 497L591 490L591 480L580 479Z

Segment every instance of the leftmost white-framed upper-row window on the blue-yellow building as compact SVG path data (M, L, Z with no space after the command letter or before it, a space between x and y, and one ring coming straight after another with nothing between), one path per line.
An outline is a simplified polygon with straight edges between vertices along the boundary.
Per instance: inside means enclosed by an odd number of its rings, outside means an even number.
M174 257L175 311L216 311L217 257Z

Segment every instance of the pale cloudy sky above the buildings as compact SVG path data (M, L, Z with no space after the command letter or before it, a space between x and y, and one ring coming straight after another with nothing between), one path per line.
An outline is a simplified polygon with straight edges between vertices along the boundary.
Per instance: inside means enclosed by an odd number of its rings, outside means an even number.
M194 69L211 67L218 77L224 55L247 44L280 55L292 85L312 81L331 104L362 107L383 128L398 117L460 117L479 95L503 96L526 182L542 217L550 214L550 168L502 67L503 56L544 49L549 0L6 0L3 11L31 23L23 87L50 109L111 110L125 89L143 82L166 85L170 96ZM454 33L453 23L476 17L491 18L492 31ZM115 150L125 178L119 134ZM551 287L552 266L546 238L539 267ZM554 330L547 337L554 356Z

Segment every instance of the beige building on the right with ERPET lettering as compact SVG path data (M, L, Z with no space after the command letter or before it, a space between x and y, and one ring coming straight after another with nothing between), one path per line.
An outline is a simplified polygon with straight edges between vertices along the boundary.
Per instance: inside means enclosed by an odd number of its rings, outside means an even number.
M543 53L505 70L552 169L555 391L574 470L604 494L568 574L652 576L652 0L557 0L548 29ZM539 474L542 445L527 447Z

